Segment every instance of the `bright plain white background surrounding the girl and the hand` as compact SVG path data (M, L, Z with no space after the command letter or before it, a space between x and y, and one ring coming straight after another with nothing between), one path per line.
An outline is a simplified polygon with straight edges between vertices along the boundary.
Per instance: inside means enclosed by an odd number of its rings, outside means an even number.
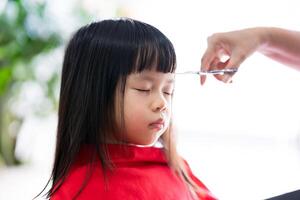
M175 46L178 71L200 68L206 38L214 32L253 26L300 30L296 0L84 2L95 20L110 18L121 5L130 17L159 28ZM58 4L60 12L68 5ZM200 86L196 75L178 76L173 109L179 151L220 199L264 199L300 189L299 102L300 72L256 53L232 84L209 77ZM0 199L30 199L43 187L55 129L55 114L27 119L20 133L27 139L18 148L31 162L0 170Z

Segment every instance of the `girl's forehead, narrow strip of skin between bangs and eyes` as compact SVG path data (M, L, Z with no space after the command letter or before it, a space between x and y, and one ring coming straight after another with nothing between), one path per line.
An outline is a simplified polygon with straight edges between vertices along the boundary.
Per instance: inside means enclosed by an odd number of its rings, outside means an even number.
M128 81L150 81L173 83L174 73L163 73L155 70L144 70L140 73L133 73L128 76Z

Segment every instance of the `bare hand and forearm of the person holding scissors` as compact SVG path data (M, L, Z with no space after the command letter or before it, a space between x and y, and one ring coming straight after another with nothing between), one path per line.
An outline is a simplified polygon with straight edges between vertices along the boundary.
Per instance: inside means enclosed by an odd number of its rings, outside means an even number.
M254 52L300 70L300 32L256 27L215 33L207 39L207 49L201 59L201 71L238 68ZM224 55L229 57L226 62L221 61ZM228 83L232 75L215 77ZM205 79L206 76L201 76L202 85Z

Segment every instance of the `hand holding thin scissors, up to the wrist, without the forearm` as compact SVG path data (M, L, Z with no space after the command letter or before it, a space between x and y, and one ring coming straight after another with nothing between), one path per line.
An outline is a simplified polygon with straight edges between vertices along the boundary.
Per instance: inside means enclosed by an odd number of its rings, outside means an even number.
M201 71L238 68L261 44L259 29L256 28L215 33L207 39L207 49L201 60ZM221 58L224 56L229 59L222 62ZM232 75L215 75L215 77L227 83L230 82ZM202 85L205 79L206 76L201 76Z

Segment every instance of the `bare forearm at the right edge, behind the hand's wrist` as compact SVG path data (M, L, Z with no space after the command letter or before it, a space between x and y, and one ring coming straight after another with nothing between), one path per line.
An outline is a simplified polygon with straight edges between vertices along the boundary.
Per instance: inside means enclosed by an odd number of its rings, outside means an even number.
M262 40L259 52L300 70L300 32L280 28L258 29Z

